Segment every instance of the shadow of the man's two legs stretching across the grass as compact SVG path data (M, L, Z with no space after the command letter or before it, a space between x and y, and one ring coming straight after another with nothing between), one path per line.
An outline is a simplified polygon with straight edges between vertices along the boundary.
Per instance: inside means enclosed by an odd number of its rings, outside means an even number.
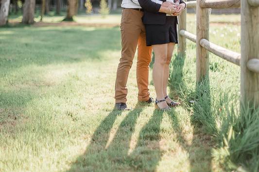
M77 158L68 172L120 170L121 166L128 162L131 137L142 110L143 108L137 104L122 120L116 133L111 129L121 111L113 110L109 113L94 132L84 155ZM108 142L110 136L113 136L113 139Z

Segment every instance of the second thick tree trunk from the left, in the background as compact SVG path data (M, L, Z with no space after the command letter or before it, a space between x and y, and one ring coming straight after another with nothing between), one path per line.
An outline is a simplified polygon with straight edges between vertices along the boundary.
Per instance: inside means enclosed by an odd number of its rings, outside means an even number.
M35 0L25 0L25 3L23 5L22 23L33 24L34 11L35 11Z

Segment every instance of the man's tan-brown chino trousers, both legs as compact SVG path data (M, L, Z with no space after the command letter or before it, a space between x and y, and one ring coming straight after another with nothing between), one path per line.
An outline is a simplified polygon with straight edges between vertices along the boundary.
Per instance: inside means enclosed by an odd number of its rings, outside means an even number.
M152 47L146 47L145 26L142 23L143 12L123 9L121 15L121 59L115 84L116 103L126 103L126 87L129 70L138 46L137 83L138 100L149 100L148 73Z

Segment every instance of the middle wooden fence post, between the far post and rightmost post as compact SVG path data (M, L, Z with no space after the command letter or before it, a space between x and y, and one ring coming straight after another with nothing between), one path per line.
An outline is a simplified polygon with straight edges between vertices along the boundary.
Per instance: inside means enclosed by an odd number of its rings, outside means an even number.
M196 3L196 82L208 77L208 51L201 47L200 40L209 40L209 9L201 8L202 0Z

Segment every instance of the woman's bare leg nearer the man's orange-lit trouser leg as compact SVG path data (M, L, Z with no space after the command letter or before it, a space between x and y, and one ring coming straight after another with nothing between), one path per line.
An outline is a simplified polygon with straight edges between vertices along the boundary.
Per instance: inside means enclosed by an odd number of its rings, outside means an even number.
M164 93L163 93L164 67L167 59L168 44L154 45L152 47L155 53L153 81L155 85L156 99L163 100L165 99ZM158 104L158 106L161 109L168 107L166 102L161 102Z

